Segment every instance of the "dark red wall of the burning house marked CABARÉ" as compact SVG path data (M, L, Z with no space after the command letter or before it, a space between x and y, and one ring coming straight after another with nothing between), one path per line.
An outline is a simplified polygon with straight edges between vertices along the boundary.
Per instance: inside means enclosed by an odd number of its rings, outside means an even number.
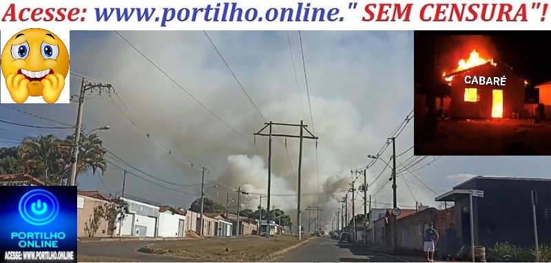
M506 76L506 86L468 85L465 84L465 76ZM492 90L503 90L503 118L512 118L512 112L521 113L524 109L524 81L505 73L499 65L494 67L487 64L472 68L469 72L455 76L451 84L450 116L453 118L491 118ZM464 101L466 88L477 88L480 101L476 103Z

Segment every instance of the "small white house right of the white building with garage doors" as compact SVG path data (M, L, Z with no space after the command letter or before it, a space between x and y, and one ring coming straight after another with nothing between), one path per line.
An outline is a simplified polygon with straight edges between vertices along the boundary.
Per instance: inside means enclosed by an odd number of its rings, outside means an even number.
M161 238L184 238L186 233L185 212L174 207L159 207L158 236Z

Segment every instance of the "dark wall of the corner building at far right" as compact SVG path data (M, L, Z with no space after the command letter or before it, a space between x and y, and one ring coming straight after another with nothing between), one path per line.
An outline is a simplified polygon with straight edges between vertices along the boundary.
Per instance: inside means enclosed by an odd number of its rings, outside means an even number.
M473 211L475 244L486 247L492 247L496 242L533 246L534 226L530 190L536 189L538 240L542 244L551 243L551 181L477 178L466 185L460 185L457 189L484 191L483 198L473 198ZM468 196L455 202L455 207L456 222L461 222L461 230L457 228L458 233L461 235L461 241L468 244ZM465 210L463 217L461 210ZM457 214L457 211L460 213Z

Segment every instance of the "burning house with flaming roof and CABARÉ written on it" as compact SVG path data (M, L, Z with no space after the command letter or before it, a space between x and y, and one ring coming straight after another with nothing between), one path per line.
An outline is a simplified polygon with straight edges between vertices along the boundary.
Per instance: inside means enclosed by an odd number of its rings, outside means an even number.
M494 59L472 50L451 73L442 74L450 86L451 118L514 118L524 112L527 81Z

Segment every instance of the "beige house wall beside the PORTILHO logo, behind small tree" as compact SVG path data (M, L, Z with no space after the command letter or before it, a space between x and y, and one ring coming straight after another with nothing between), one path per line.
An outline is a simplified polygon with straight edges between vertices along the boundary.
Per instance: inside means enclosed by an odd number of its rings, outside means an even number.
M79 238L81 237L105 237L107 235L110 235L108 233L108 227L107 220L103 218L99 218L99 227L97 231L94 231L90 227L90 223L92 222L92 219L94 218L94 208L95 207L103 207L103 204L107 204L107 201L104 200L98 200L95 198L89 198L87 196L77 196L77 222L79 229L77 231L77 235Z

